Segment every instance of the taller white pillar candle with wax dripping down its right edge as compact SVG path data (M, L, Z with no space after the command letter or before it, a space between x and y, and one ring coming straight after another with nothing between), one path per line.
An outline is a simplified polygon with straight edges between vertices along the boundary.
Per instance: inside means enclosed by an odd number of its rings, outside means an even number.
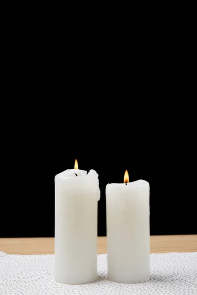
M55 177L55 280L84 284L98 279L97 215L100 198L94 170L66 170Z

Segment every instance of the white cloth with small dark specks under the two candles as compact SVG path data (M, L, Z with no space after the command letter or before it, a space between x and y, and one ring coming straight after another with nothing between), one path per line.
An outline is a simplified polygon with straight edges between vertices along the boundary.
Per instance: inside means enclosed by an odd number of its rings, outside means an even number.
M97 282L65 285L54 280L54 255L0 252L0 295L197 295L197 252L150 257L151 277L145 283L109 281L103 254L98 255Z

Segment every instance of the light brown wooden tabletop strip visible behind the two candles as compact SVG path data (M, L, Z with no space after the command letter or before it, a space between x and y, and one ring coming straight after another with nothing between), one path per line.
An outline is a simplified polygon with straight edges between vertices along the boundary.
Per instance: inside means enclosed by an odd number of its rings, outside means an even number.
M54 254L54 237L0 238L0 251L8 254ZM98 254L106 251L106 236L99 236ZM197 252L197 235L150 236L150 252Z

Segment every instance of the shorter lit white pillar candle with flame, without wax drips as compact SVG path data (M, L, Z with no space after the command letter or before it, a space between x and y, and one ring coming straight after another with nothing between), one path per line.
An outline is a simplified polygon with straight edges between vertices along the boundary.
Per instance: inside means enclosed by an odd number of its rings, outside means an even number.
M106 210L108 279L119 283L147 281L150 276L149 183L129 182L128 175L128 183L107 184Z

